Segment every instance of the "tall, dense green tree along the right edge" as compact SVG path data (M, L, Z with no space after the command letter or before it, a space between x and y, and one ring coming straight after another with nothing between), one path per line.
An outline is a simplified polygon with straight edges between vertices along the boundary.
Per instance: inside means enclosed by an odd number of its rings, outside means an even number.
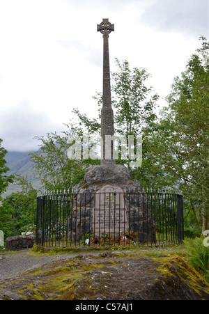
M149 136L148 159L162 168L167 182L183 190L203 233L209 208L209 42L201 40L185 72L174 79L168 107Z

